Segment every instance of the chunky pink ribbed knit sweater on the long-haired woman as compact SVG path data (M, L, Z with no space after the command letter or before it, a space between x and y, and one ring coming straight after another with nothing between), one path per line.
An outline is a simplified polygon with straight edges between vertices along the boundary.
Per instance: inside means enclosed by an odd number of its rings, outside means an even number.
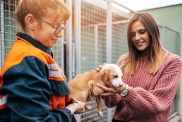
M122 58L121 61L122 62ZM179 56L167 53L160 70L147 72L148 62L142 59L137 72L123 76L123 81L133 88L126 97L119 94L104 98L107 107L116 106L114 118L128 122L166 122L170 107L179 87L182 61ZM124 73L124 67L121 67Z

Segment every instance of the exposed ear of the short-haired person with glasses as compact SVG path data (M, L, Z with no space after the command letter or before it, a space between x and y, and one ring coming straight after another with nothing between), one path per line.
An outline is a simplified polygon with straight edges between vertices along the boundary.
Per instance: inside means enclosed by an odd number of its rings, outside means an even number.
M28 14L25 17L25 28L26 30L34 30L37 26L37 21L32 14Z

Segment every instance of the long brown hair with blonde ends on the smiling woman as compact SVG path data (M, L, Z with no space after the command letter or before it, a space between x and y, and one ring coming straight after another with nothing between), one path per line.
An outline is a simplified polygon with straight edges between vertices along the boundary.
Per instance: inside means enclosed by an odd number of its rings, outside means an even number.
M164 61L164 50L160 43L158 26L154 18L148 13L136 13L129 21L127 31L129 53L124 61L125 73L132 75L139 66L141 52L133 45L131 36L131 26L136 21L140 21L149 33L150 44L148 47L149 54L147 56L147 60L149 61L148 71L151 74L155 74Z

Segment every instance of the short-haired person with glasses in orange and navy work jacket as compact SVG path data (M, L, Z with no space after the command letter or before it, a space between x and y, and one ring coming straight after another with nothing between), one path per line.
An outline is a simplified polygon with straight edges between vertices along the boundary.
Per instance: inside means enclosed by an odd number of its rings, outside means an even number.
M72 122L84 111L72 103L60 67L49 48L62 37L70 12L60 0L20 0L15 11L22 32L0 77L1 122Z

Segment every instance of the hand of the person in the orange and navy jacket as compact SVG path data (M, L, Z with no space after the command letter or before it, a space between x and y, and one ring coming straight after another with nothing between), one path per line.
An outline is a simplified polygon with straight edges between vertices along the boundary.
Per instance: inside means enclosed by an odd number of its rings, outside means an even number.
M66 108L69 109L72 114L82 113L85 112L85 102L76 101L66 106Z

